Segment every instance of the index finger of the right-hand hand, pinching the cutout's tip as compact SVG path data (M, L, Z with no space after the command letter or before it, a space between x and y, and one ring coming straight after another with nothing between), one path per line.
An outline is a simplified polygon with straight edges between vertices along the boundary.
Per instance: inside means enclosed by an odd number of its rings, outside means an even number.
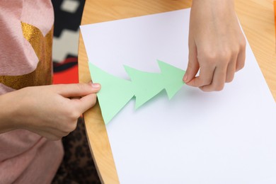
M212 83L215 67L205 66L200 68L200 76L195 77L187 83L189 86L202 87Z

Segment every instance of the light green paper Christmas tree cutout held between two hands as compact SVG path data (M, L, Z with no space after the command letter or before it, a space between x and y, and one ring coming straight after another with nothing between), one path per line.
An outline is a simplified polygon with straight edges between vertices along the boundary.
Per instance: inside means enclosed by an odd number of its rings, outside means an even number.
M161 73L139 71L124 66L131 81L108 74L88 62L91 79L101 85L98 101L105 124L108 124L134 96L135 109L137 109L163 89L166 90L169 99L180 90L185 84L183 81L185 71L159 60L157 62Z

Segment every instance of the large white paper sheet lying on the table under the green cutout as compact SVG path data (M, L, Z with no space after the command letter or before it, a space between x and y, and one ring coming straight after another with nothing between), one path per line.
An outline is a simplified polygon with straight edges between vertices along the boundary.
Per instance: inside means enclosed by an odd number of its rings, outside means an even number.
M188 64L190 9L82 25L88 59L127 79L123 64L158 72ZM110 104L112 105L112 104ZM276 105L249 45L224 91L183 87L107 125L120 183L276 183Z

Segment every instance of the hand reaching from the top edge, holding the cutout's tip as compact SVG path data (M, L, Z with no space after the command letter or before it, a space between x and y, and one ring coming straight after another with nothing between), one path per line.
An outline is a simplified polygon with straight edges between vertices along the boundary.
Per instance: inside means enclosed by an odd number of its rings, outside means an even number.
M183 80L202 91L220 91L246 57L246 41L233 0L194 0L190 13L189 62ZM199 76L195 76L200 69Z

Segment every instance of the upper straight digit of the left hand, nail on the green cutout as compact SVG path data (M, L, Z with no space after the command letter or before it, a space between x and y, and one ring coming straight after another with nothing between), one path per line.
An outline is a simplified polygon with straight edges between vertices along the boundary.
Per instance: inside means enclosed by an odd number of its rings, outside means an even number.
M59 84L54 85L54 88L57 90L57 93L69 98L97 93L100 90L100 84Z

